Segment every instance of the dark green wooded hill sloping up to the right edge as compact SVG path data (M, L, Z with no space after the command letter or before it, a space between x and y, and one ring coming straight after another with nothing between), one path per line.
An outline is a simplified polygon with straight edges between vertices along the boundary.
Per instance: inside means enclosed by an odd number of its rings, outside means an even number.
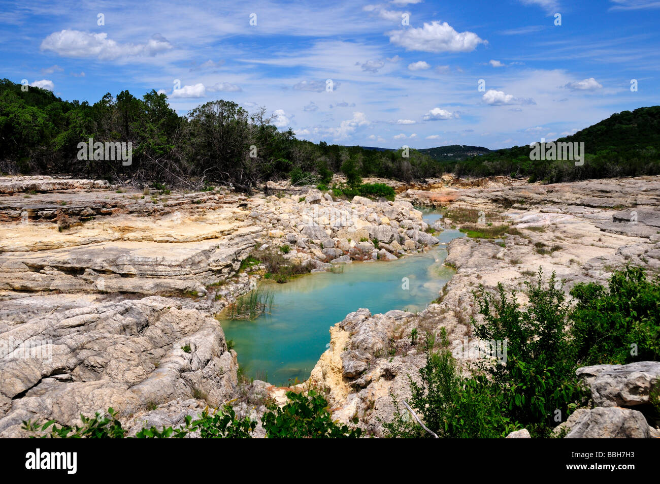
M531 148L524 145L471 156L447 169L458 176L510 175L548 183L660 174L660 106L612 114L556 141L584 143L584 163L531 160Z

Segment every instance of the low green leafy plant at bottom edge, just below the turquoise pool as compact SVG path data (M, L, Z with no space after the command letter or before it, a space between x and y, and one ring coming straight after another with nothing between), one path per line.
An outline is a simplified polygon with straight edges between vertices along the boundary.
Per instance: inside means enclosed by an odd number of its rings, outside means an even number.
M357 438L362 434L359 428L333 421L327 400L317 390L307 395L290 391L286 397L288 403L271 405L261 419L269 438Z

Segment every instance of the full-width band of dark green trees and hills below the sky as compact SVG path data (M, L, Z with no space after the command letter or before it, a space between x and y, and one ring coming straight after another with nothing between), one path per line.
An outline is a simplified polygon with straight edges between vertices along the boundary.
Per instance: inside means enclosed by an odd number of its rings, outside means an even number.
M353 188L360 177L411 182L454 172L457 176L510 175L532 181L660 173L660 106L614 114L558 141L585 143L582 166L532 161L529 146L489 151L451 145L422 150L374 149L311 143L292 129L279 131L266 108L249 114L216 100L179 116L165 94L136 98L124 90L98 102L64 101L36 87L23 91L0 81L0 172L77 174L135 183L202 187L232 184L250 191L257 182L290 178L295 184L328 184L343 172ZM118 160L79 160L78 144L132 143L128 166ZM470 156L476 155L476 156ZM467 156L467 159L465 159Z

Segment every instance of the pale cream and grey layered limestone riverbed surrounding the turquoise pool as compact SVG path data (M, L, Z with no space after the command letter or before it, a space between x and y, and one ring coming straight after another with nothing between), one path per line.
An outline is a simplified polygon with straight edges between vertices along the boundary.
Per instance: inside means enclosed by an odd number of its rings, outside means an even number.
M424 312L361 309L330 328L310 382L327 390L336 418L358 416L374 436L393 413L391 393L406 398L407 375L424 363L411 330L469 341L479 284L515 287L541 267L568 292L630 262L660 271L660 177L543 186L446 176L397 184L394 202L265 189L275 194L1 178L0 436L22 435L23 420L71 424L110 406L131 432L230 399L257 416L284 389L239 382L213 318L263 277L260 265L240 271L241 261L259 249L312 272L387 263L438 242L413 203L455 215L438 228L467 226L461 214L474 212L471 229L510 233L453 240L446 263L456 274Z

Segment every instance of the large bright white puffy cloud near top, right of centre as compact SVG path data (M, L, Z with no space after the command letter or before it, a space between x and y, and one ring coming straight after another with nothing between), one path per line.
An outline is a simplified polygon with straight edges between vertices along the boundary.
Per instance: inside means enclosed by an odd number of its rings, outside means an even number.
M447 22L424 22L423 27L391 30L385 35L392 44L421 52L472 52L487 42L474 32L456 32Z

